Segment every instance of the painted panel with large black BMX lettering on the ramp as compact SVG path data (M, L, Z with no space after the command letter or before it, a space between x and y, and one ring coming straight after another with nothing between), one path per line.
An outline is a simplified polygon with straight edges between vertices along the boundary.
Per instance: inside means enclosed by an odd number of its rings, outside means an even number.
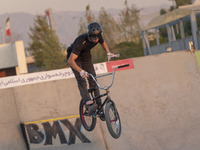
M81 132L80 118L24 123L21 127L28 149L91 143Z

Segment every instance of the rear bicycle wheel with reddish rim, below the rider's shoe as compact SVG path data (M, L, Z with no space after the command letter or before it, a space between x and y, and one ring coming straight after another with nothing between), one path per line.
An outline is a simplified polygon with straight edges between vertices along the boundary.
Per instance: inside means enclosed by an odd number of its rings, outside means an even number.
M87 131L92 131L94 130L96 126L96 117L93 115L87 115L85 114L85 102L81 100L80 106L79 106L79 114L80 114L80 119L83 127Z

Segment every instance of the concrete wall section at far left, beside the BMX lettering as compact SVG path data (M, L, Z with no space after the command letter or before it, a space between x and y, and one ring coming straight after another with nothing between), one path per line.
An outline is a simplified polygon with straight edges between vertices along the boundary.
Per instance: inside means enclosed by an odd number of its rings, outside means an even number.
M15 89L0 90L0 149L25 150L20 117L16 105Z

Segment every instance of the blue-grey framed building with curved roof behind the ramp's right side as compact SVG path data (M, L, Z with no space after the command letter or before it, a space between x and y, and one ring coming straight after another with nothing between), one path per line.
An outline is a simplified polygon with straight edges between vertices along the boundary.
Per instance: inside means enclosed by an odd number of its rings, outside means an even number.
M142 30L144 54L152 55L193 48L199 50L199 28L200 0L153 18ZM161 42L161 30L166 31L165 42ZM188 30L189 32L186 32ZM150 34L155 35L154 44L151 44Z

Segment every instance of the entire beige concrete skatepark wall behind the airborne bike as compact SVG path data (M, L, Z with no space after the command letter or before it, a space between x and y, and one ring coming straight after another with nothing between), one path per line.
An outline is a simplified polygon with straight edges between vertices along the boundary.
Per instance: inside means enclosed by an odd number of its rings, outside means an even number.
M134 58L134 69L118 71L111 95L122 135L113 139L105 122L82 131L92 144L37 149L198 150L200 69L195 54L179 51ZM107 79L102 80L106 83ZM74 78L0 90L0 149L26 149L20 123L77 115L80 96Z

